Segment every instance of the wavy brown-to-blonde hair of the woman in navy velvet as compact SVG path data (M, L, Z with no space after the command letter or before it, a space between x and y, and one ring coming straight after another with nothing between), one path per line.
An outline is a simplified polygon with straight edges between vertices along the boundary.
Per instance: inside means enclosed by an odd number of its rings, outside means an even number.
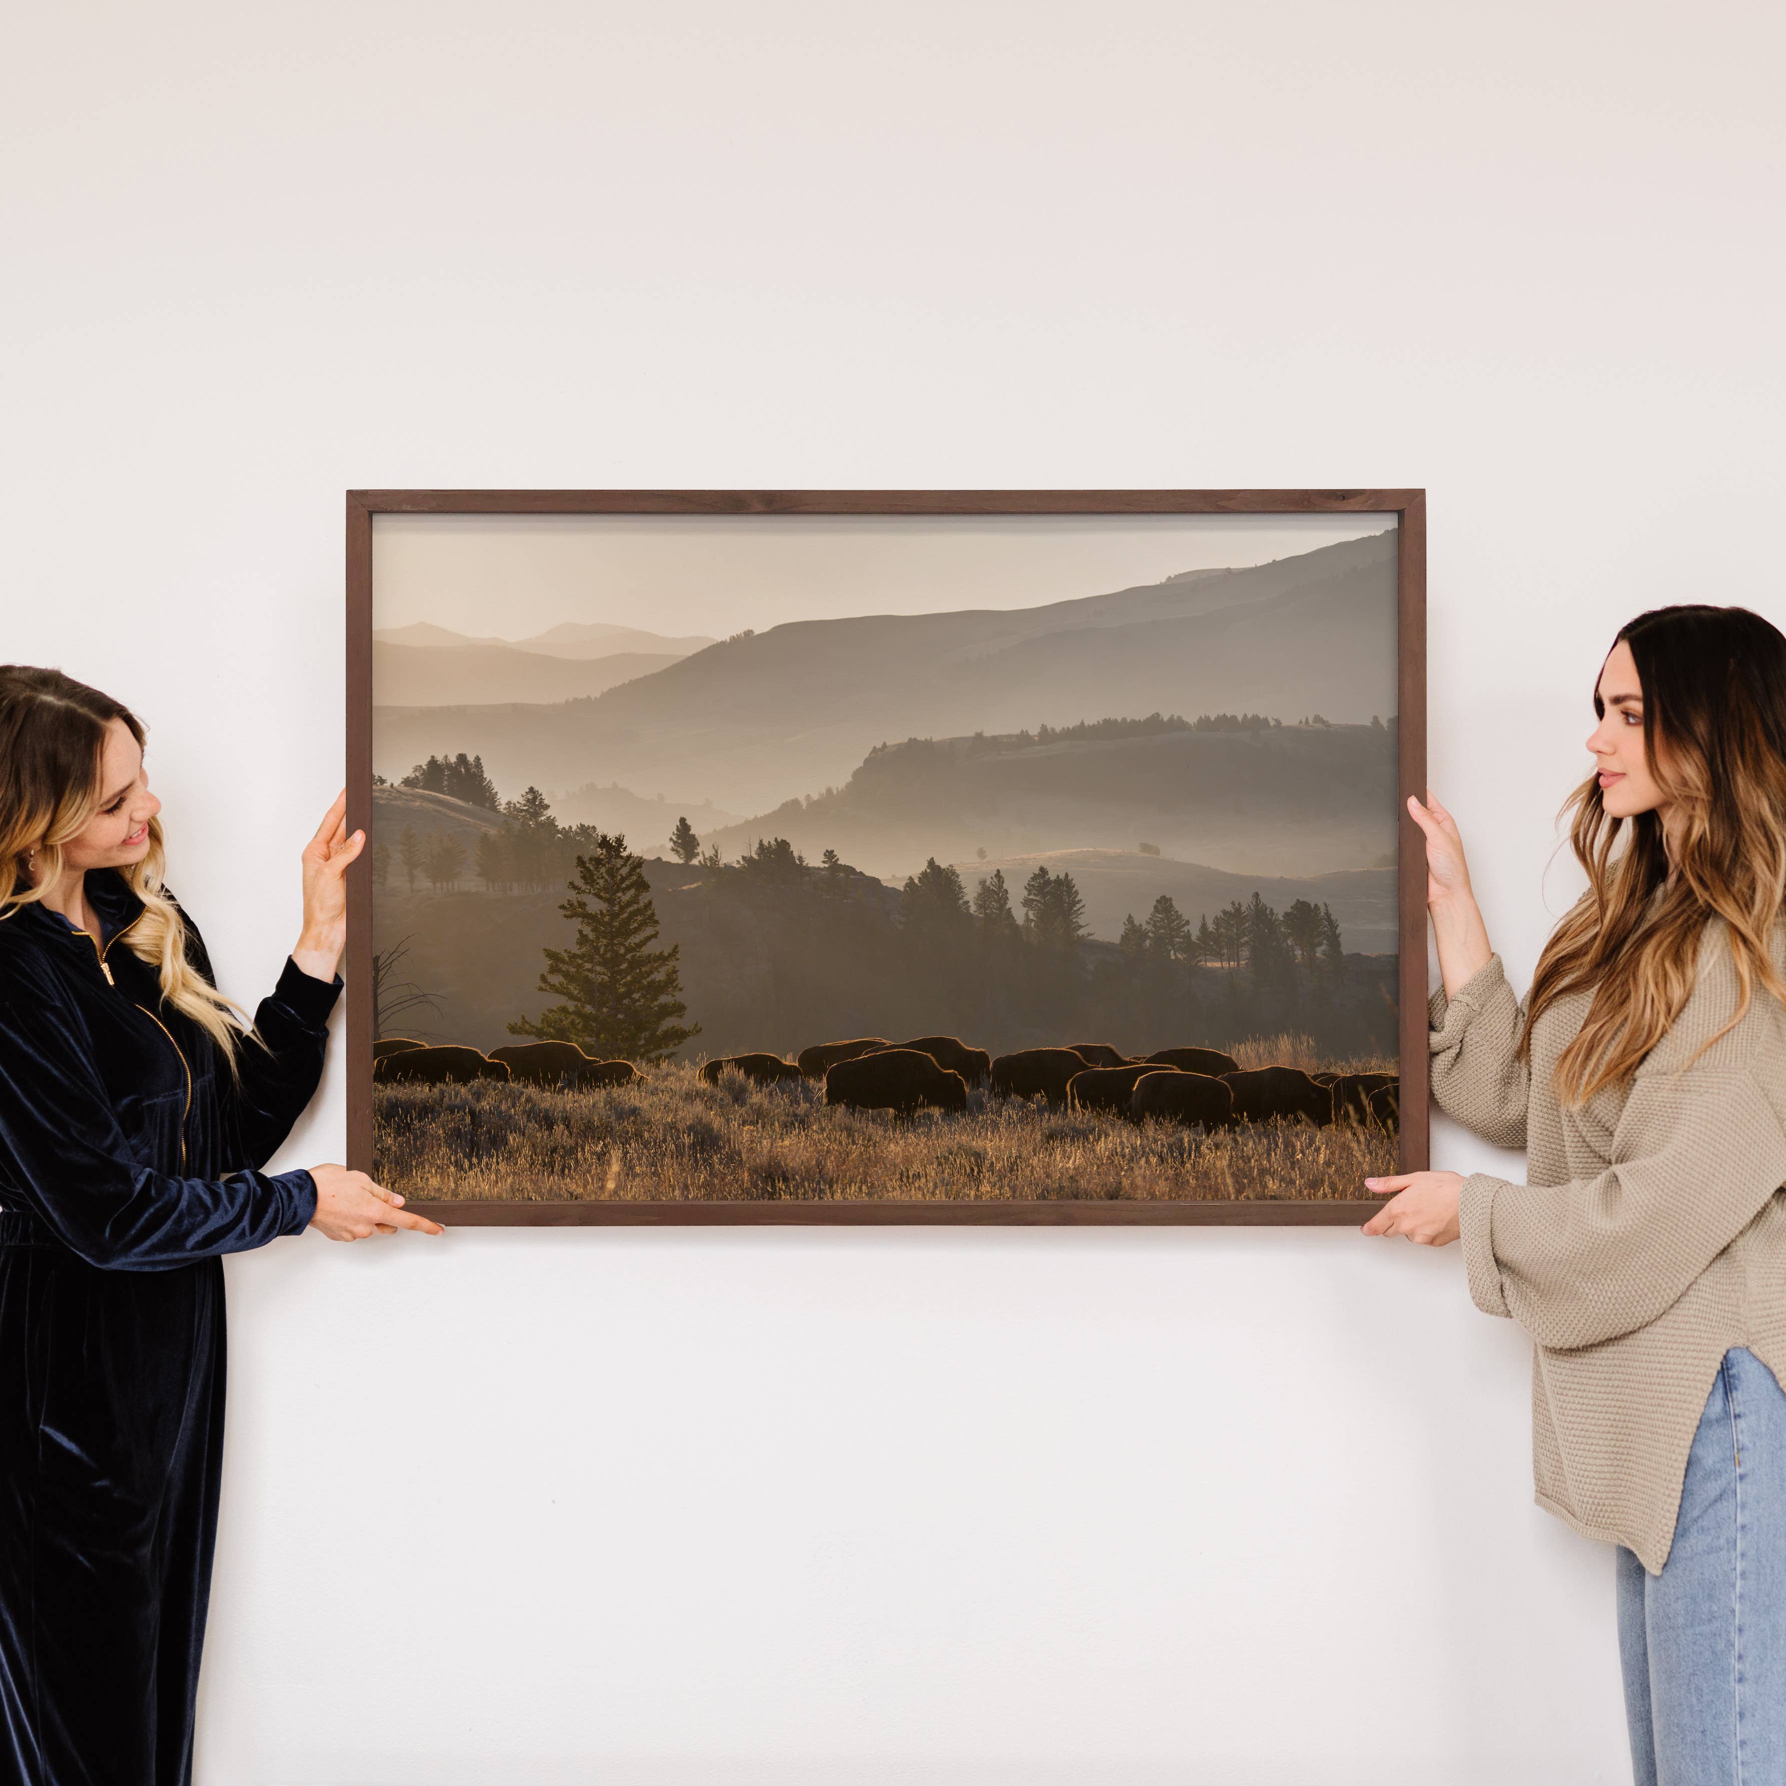
M111 695L61 670L0 664L0 922L38 904L64 868L64 850L98 811L105 729L121 720L143 745L141 720ZM186 959L186 920L161 886L161 822L148 822L148 855L118 873L143 902L120 941L161 979L161 993L216 1045L234 1073L252 1034L246 1014Z

